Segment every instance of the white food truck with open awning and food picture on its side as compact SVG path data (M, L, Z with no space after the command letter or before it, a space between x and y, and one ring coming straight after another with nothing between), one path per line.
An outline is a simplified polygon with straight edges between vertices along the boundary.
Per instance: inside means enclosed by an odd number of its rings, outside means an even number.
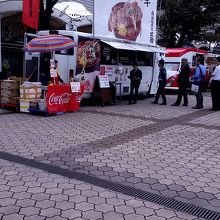
M128 95L130 91L128 76L134 62L138 63L139 69L142 70L139 93L147 94L155 78L154 74L158 74L155 73L155 61L156 53L164 52L161 48L129 41L100 39L91 34L66 30L40 31L38 35L52 33L65 35L77 43L77 47L73 49L54 52L53 57L59 63L60 76L65 83L69 83L72 75L75 81L86 81L85 97L89 97L93 92L95 78L98 75L107 75L109 81L117 84L117 95ZM41 54L33 53L30 55L26 53L26 64L31 62L33 56L40 60ZM26 73L27 69L26 66Z

